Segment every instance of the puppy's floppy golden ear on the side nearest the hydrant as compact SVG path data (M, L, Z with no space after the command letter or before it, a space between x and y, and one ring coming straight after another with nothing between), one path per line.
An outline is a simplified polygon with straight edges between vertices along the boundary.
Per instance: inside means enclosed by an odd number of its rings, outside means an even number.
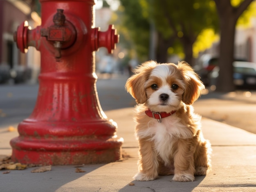
M152 69L157 65L154 61L144 62L138 68L134 70L134 75L132 75L126 82L125 88L128 93L136 99L138 104L144 104L147 100L146 88L144 87L145 82Z

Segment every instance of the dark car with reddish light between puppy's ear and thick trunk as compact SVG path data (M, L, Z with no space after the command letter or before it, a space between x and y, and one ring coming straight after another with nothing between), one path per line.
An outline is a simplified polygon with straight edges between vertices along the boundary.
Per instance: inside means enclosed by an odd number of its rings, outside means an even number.
M235 58L235 61L244 61L247 60L243 58ZM218 66L219 58L212 57L209 54L204 54L200 57L200 60L196 66L194 66L195 72L201 77L201 81L204 83L205 86L212 85L212 77L211 73L213 69Z

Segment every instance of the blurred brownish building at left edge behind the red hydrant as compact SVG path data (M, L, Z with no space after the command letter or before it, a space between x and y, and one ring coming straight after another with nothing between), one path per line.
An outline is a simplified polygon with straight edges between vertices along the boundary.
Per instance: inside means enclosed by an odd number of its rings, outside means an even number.
M34 55L33 49L21 53L13 40L13 33L23 21L29 21L30 26L38 22L31 18L28 2L32 0L0 0L0 83L10 79L15 83L25 82L33 77L34 69L38 71L34 66L40 66L40 53Z

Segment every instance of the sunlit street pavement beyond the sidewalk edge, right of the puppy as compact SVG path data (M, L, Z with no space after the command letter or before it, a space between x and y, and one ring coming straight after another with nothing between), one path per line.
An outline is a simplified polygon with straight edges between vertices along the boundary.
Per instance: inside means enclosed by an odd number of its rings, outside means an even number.
M256 133L256 91L222 94L206 90L194 108L203 117Z

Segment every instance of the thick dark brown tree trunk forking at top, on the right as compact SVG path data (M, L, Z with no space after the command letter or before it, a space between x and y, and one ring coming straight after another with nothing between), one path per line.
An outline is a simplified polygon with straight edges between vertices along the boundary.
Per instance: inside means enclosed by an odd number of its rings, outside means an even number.
M214 0L220 20L220 56L217 90L234 91L233 61L236 22L253 0L243 0L238 7L233 7L230 0Z

